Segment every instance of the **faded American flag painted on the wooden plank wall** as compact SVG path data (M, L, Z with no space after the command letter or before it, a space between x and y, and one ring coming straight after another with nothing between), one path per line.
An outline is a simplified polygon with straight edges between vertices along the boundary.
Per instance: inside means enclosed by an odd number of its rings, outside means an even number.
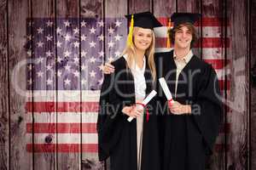
M168 19L159 20L164 26L154 30L157 52L170 50L166 48ZM202 47L203 59L216 69L223 89L220 20L203 18L202 26L202 44L196 48ZM120 56L127 29L125 18L27 20L28 152L97 152L102 65Z

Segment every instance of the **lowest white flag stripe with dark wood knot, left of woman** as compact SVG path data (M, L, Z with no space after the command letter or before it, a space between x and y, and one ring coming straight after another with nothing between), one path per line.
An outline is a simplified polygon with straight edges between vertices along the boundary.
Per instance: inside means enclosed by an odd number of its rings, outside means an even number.
M80 144L81 133L34 133L34 144L47 144L46 138L51 138L50 144L56 144L56 138L58 138L58 144ZM31 143L32 133L26 133L27 144ZM96 133L82 133L82 144L97 144L98 137Z

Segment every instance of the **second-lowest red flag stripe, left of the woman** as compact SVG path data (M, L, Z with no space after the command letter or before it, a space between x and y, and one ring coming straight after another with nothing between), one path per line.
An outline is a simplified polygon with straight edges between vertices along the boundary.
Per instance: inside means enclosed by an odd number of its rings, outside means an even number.
M82 126L82 132L81 127ZM96 123L34 123L34 133L96 133ZM26 133L32 133L32 123L26 123Z

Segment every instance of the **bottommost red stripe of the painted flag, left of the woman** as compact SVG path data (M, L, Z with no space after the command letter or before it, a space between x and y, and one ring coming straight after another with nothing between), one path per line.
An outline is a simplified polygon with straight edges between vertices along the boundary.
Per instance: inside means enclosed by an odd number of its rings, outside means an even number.
M58 149L57 149L58 147ZM26 151L28 152L97 152L98 144L26 144Z

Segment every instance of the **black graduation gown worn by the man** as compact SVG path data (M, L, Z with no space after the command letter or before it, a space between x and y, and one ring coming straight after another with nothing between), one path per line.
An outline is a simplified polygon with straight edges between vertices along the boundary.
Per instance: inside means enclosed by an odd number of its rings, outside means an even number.
M157 77L165 77L174 100L191 105L191 115L173 115L166 96L157 83L158 100L164 105L160 122L161 156L164 170L205 169L205 159L212 153L222 118L222 103L218 79L212 65L195 55L183 68L175 94L176 64L171 52L155 54ZM189 75L193 75L193 78ZM186 79L187 77L187 79ZM190 88L190 90L189 90ZM217 94L217 95L216 95ZM200 108L200 110L198 110Z

